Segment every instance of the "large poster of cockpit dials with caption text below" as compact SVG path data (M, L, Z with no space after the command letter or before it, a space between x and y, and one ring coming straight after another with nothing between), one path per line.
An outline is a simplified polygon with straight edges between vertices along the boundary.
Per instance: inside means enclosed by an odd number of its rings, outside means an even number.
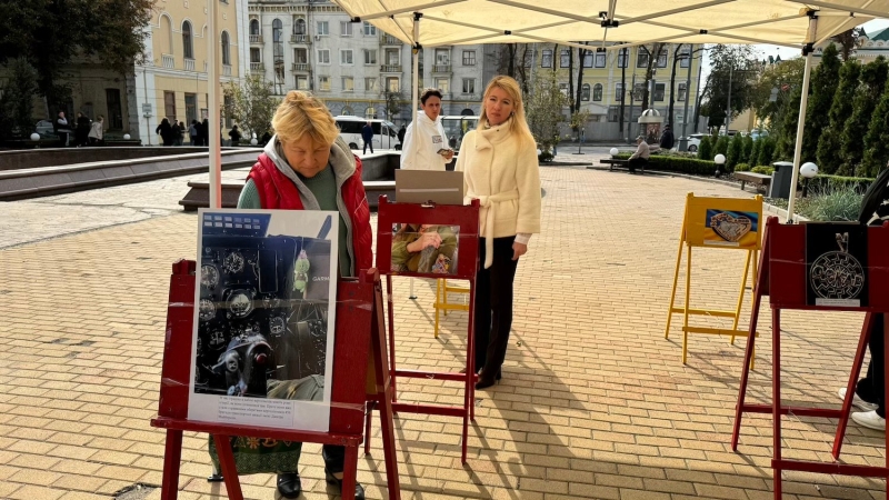
M337 217L200 212L190 419L327 429Z

